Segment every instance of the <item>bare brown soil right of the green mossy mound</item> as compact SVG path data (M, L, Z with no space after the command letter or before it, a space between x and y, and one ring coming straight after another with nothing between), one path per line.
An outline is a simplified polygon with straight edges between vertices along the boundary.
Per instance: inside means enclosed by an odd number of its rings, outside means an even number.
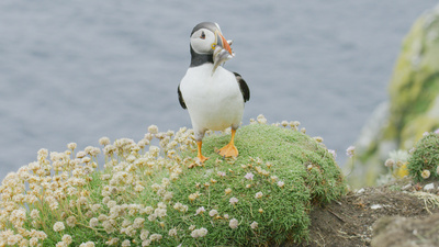
M431 218L431 215L439 214L439 201L426 199L429 198L428 195L438 194L438 189L425 192L423 189L424 186L419 183L412 184L409 181L399 181L398 183L382 187L364 188L356 192L349 192L340 200L333 201L325 206L315 206L311 212L309 242L300 246L352 247L371 246L371 244L372 246L402 246L386 245L382 240L376 239L372 242L372 238L381 237L382 239L387 239L389 243L396 243L392 242L392 237L398 238L401 243L404 242L404 238L413 238L410 235L418 233L418 229L409 229L408 226L408 228L404 228L405 232L403 231L402 234L393 234L385 237L383 235L379 236L380 234L385 234L386 228L392 228L389 225L393 224L393 228L399 227L404 218L413 218L417 221L416 224L418 225L434 224L432 222L435 221L428 221L428 218ZM438 183L435 183L435 188L438 188ZM401 216L404 218L398 221L398 218L395 220L389 216ZM381 221L379 221L380 218ZM416 226L413 225L413 227ZM436 227L432 226L432 228ZM431 229L428 226L424 228L427 232ZM392 232L394 229L389 231ZM382 243L383 245L378 245L376 243ZM436 244L426 246L439 246ZM282 246L296 245L285 243Z

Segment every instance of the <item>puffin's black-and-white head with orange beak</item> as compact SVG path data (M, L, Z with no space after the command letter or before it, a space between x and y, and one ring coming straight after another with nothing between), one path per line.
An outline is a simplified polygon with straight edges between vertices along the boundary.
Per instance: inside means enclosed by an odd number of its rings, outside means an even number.
M229 42L232 44L232 42ZM218 50L233 56L229 43L224 38L219 25L214 22L201 22L191 32L191 67L205 63L214 64ZM216 50L216 52L215 52Z

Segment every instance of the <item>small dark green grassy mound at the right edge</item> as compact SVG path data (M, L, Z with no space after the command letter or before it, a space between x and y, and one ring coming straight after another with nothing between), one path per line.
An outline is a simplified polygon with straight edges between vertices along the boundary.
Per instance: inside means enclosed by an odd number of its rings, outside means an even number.
M439 134L428 133L419 139L407 169L416 182L439 179Z

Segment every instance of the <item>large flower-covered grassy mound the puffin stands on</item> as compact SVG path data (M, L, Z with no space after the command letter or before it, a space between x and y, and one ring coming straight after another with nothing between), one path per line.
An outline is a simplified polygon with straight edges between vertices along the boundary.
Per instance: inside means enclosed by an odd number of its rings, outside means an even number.
M191 131L149 133L38 160L0 187L0 246L258 246L307 238L312 203L346 190L334 157L301 132L251 124L237 132L237 159L214 153L229 135L203 142ZM150 143L159 141L159 146Z

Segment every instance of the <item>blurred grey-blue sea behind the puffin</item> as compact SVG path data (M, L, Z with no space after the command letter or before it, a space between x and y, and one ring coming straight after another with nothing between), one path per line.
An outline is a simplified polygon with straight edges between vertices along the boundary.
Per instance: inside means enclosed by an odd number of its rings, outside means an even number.
M0 179L98 139L191 126L177 86L189 34L219 23L251 90L244 124L297 120L338 161L386 87L402 41L434 0L0 2ZM239 138L239 136L238 136Z

